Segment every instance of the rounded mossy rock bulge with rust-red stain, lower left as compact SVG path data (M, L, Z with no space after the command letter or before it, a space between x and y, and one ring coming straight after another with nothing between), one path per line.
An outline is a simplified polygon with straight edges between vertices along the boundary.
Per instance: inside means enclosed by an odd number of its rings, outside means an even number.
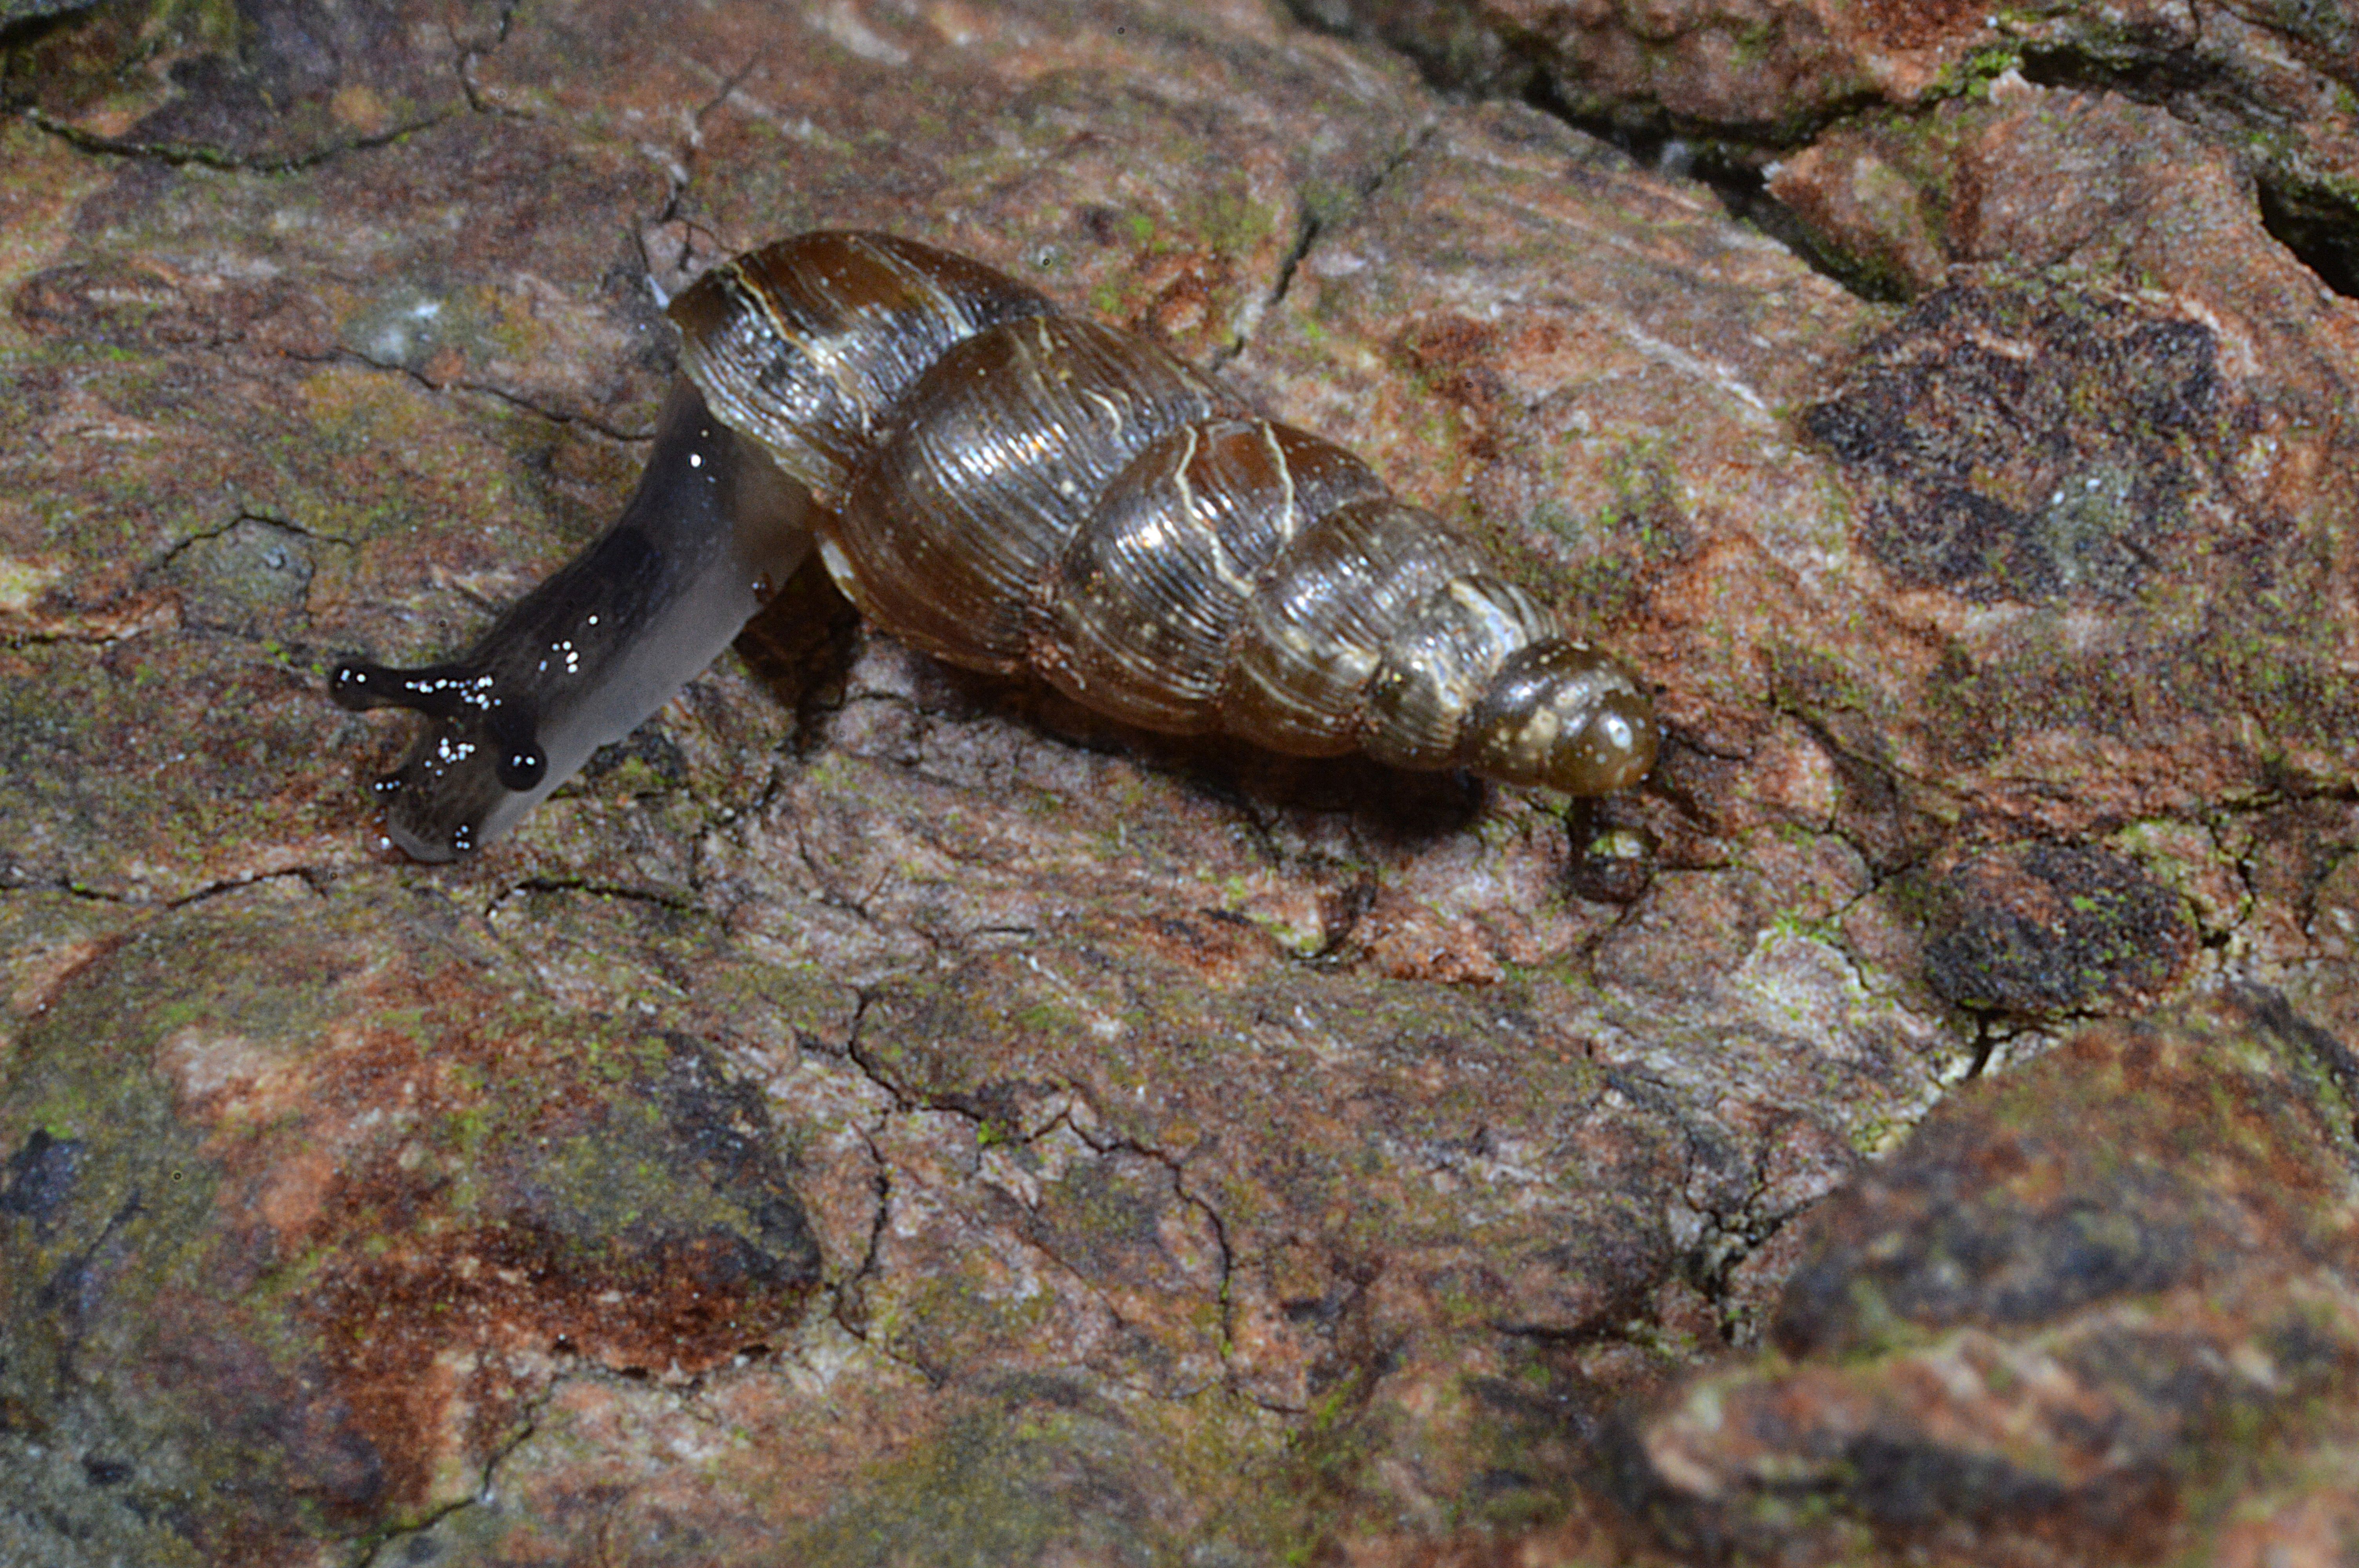
M819 1278L710 1047L519 1012L436 927L267 884L123 936L14 1042L5 1419L134 1452L208 1556L465 1497L566 1365L694 1377Z

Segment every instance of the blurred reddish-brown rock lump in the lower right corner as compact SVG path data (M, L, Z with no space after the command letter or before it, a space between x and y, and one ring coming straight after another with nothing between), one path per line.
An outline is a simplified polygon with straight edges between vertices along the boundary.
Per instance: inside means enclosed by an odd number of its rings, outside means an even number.
M1635 1424L1649 1507L1807 1561L2347 1544L2307 1467L2352 1441L2354 1087L2241 993L1960 1094L1812 1221L1774 1353Z

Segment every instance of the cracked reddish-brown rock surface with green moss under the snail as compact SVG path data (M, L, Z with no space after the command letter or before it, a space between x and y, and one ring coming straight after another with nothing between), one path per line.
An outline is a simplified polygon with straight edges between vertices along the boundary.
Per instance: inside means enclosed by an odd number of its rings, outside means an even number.
M1316 12L1585 130L1257 5L5 24L0 1561L2359 1549L2352 40L1899 9ZM1356 446L1656 778L802 582L375 851L326 670L585 542L646 278L816 224Z

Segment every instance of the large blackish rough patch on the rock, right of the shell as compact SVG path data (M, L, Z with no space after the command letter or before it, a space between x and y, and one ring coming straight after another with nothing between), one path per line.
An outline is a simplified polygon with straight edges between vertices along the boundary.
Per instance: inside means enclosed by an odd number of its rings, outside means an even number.
M1885 568L1967 599L2125 601L2220 476L2210 328L2041 285L1927 295L1805 417Z

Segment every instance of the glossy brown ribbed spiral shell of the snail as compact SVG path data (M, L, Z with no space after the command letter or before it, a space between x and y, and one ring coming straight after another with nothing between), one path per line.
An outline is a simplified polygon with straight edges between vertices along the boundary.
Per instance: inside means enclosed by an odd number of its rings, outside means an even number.
M712 410L809 486L906 641L1116 719L1604 795L1647 696L1439 516L1163 347L979 262L807 233L672 304Z

